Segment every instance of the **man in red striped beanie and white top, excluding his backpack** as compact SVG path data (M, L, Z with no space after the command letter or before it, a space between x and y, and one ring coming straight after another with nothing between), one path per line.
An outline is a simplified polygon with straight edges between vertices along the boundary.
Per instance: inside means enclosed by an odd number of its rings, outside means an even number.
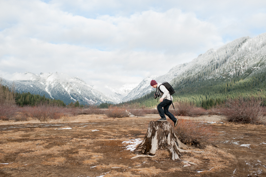
M172 104L173 97L170 95L169 91L163 84L157 83L155 80L151 80L150 85L153 88L156 88L156 91L159 92L160 96L162 96L160 98L161 103L157 106L157 110L161 116L158 121L166 121L166 114L174 122L174 126L176 126L178 119L175 118L175 116L173 116L173 114L168 111L169 106Z

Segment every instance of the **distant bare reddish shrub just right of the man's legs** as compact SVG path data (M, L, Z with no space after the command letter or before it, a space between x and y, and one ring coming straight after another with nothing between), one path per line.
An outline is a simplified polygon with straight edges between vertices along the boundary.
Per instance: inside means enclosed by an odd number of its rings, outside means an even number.
M173 103L175 109L169 110L175 116L202 116L206 114L206 110L203 108L197 108L193 104L187 102Z

